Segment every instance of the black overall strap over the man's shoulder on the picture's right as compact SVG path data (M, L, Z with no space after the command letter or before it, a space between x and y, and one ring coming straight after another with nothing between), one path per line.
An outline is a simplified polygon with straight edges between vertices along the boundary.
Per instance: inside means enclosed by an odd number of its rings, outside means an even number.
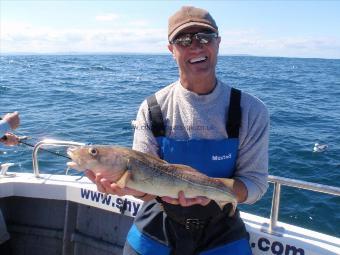
M241 127L241 91L231 88L226 130L228 138L238 138Z

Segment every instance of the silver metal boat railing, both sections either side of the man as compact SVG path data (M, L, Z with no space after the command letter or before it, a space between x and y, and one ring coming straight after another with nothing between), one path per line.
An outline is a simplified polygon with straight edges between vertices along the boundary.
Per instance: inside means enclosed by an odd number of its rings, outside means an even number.
M33 171L36 177L39 177L39 165L38 165L38 151L42 146L81 146L85 145L84 143L78 143L73 141L60 141L53 139L45 139L38 142L32 153L32 161L33 161ZM340 196L340 188L323 185L318 183L300 181L296 179L290 179L279 176L268 176L268 182L274 184L274 190L272 194L272 205L270 212L270 221L269 224L264 224L263 231L281 236L284 232L282 227L277 226L278 218L279 218L279 209L280 209L280 196L281 196L281 186L289 186L298 189L310 190L319 193L330 194L334 196Z

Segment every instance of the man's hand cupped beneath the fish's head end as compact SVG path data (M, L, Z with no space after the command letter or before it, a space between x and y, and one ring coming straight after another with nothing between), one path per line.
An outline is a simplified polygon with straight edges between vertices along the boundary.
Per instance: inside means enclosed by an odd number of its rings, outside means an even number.
M95 174L91 170L86 170L85 175L97 185L98 191L102 193L113 194L117 196L132 195L136 197L143 196L145 194L144 192L130 189L128 187L121 188L117 183L110 182L105 177L103 177L102 174Z

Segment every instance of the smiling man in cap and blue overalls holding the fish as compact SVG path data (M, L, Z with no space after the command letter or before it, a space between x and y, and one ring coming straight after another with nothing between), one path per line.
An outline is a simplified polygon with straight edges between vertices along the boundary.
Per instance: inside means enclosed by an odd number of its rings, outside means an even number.
M142 103L133 149L222 178L239 203L256 202L267 189L266 107L216 78L221 38L207 11L182 7L169 18L168 39L179 80ZM88 176L100 191L145 201L124 254L251 254L244 223L238 210L229 216L229 205L221 210L206 197L187 199L183 192L155 198L120 189L100 174Z

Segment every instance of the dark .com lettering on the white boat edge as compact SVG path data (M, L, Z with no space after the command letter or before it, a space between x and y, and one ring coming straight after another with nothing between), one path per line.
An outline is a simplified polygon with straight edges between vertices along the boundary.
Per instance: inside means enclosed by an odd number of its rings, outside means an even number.
M259 249L264 252L271 252L274 255L305 255L305 251L301 248L296 248L293 245L284 245L281 242L274 241L270 242L267 238L261 237L258 239L257 243L251 243L252 248Z

